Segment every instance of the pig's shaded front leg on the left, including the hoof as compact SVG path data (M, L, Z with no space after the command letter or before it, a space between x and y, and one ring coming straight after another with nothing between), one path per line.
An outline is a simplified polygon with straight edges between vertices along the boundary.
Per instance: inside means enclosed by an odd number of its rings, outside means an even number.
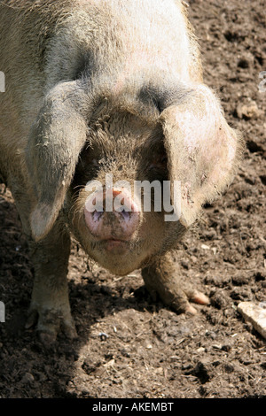
M30 242L35 281L26 327L37 321L44 344L53 343L62 330L69 338L76 336L67 290L67 266L70 236L56 223L42 242Z

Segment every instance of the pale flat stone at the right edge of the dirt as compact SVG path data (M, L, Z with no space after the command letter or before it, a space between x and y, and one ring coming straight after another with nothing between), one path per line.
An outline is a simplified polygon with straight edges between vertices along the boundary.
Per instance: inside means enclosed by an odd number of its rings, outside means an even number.
M240 302L238 311L266 339L266 309L253 302Z

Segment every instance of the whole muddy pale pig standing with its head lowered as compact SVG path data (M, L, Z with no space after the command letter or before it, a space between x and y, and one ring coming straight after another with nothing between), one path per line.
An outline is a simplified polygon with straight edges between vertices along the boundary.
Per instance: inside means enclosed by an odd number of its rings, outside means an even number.
M202 205L231 183L242 142L203 82L186 7L0 1L0 173L35 268L27 327L37 324L43 342L59 330L76 336L66 283L71 233L111 273L141 269L153 297L176 312L208 303L180 284L172 250ZM166 220L162 203L154 208L154 188L145 210L136 181L156 181L160 196L170 183L176 220ZM93 212L96 200L103 204Z

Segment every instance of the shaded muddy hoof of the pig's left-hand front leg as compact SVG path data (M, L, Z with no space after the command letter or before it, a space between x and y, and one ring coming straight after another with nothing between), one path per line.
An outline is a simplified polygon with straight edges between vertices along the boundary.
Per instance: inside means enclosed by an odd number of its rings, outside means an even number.
M34 327L35 324L40 340L46 347L55 343L60 331L69 339L77 337L70 312L51 310L40 312L32 309L28 315L26 328Z

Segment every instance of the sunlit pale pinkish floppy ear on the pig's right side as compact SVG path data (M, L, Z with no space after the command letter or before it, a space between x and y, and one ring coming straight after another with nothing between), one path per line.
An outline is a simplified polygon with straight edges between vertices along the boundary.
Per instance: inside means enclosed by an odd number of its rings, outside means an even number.
M243 150L242 139L229 127L219 101L204 85L161 112L160 122L169 179L181 185L181 206L173 196L172 204L181 212L180 222L189 227L201 206L212 202L232 181Z

